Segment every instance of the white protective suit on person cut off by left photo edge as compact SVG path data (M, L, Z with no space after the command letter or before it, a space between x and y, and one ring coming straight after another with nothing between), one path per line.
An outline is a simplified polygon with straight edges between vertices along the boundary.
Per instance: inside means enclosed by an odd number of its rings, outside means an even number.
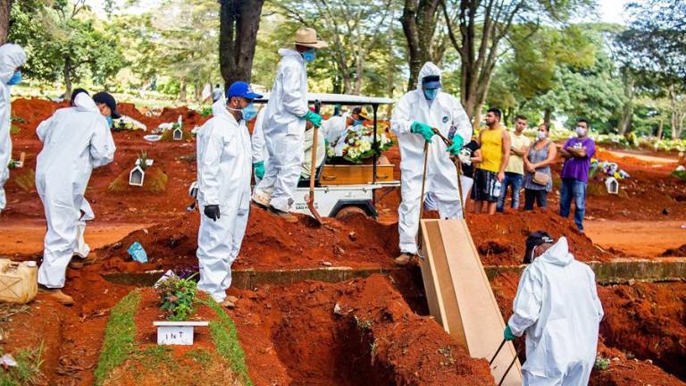
M7 204L4 183L10 178L10 169L7 164L12 159L12 138L10 138L12 100L7 82L12 79L14 71L24 63L26 63L26 54L21 46L11 43L0 46L0 212Z

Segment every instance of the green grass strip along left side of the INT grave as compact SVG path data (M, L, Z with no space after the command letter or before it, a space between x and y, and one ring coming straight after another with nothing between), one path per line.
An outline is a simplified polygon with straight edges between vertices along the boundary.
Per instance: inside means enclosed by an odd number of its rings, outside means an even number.
M103 350L97 361L96 385L101 385L117 365L129 357L135 347L136 323L134 316L140 302L140 292L132 290L112 309L105 328Z

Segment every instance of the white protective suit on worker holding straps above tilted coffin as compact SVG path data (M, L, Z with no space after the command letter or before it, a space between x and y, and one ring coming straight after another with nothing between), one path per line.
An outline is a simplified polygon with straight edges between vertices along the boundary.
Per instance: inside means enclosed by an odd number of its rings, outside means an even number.
M422 91L422 79L430 75L440 76L440 70L431 62L424 63L419 71L417 88L398 101L391 117L391 130L396 132L400 146L402 201L397 210L400 250L408 254L417 253L416 235L419 228L425 142L421 134L410 131L412 122L426 123L446 137L450 128L455 126L455 135L462 137L465 144L472 135L469 118L454 96L441 91L431 104L426 100ZM462 208L457 189L457 171L446 149L446 144L438 136L431 138L424 193L432 196L441 218L460 218Z

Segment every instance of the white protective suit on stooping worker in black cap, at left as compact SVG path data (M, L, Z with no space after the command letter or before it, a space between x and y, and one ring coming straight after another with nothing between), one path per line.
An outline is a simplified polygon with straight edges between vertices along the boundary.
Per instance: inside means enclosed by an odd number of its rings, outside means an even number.
M64 273L74 253L88 255L88 246L79 243L85 221L94 215L84 194L93 168L111 163L116 149L93 99L81 93L74 105L57 110L36 129L43 142L36 161L36 189L47 222L38 283L48 288L64 287Z

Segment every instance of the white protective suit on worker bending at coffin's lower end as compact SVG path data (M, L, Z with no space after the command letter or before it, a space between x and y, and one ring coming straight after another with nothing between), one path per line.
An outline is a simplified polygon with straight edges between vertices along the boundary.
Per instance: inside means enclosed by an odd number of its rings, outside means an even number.
M603 307L595 274L574 260L567 239L526 267L513 311L507 322L513 334L526 332L524 385L588 384Z

